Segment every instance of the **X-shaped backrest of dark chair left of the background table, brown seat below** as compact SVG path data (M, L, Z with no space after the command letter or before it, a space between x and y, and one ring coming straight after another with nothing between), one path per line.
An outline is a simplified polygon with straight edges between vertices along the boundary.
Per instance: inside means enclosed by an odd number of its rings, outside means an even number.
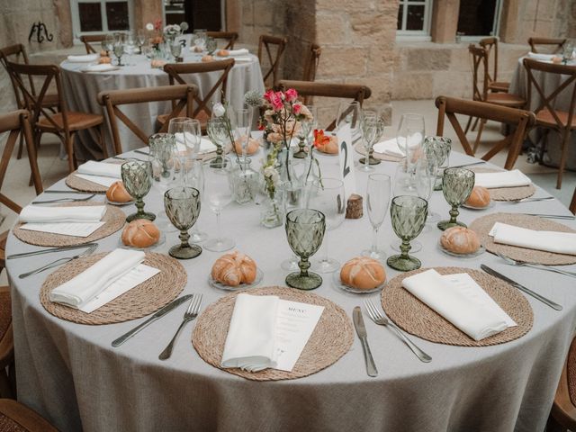
M7 65L13 72L14 81L23 99L24 108L31 112L32 127L36 124L40 115L42 115L56 130L62 132L68 131L67 106L62 97L60 68L56 65L26 65L23 63L12 63L11 61L8 61ZM34 79L43 80L38 94L32 91L33 87L30 84ZM50 85L56 86L58 102L55 108L58 108L58 115L62 117L61 123L54 121L55 112L42 106L45 105L43 101Z

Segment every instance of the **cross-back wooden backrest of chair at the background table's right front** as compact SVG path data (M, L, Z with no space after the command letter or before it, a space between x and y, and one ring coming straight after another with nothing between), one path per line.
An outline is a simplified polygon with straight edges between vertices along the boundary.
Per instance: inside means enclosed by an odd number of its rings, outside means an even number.
M221 94L226 94L228 74L232 67L234 67L234 58L221 61L211 61L209 63L169 63L164 67L164 71L168 74L170 85L188 84L184 79L185 75L215 71L221 72L220 77L214 85L212 85L211 89L202 92L203 97L201 97L200 94L194 94L194 102L196 103L196 106L193 109L193 115L190 117L196 118L203 113L210 118L212 114L209 106L211 98L214 94L216 94L217 97L220 97Z

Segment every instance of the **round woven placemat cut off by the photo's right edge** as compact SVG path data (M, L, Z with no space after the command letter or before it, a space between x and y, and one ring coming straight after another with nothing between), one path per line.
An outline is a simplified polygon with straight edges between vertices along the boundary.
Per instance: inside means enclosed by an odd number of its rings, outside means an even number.
M488 233L496 222L539 231L576 232L574 229L568 228L562 223L537 216L518 213L487 214L486 216L482 216L482 218L474 220L468 228L476 231L476 234L480 237L480 242L488 251L494 254L500 252L500 254L512 259L517 259L518 261L544 264L546 266L562 266L576 263L576 256L573 255L554 254L552 252L545 252L544 250L494 243L494 238L490 237Z

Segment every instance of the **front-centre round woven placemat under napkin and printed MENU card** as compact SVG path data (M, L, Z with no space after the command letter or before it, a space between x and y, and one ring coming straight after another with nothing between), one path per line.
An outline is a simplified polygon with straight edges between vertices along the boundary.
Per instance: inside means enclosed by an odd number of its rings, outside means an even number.
M344 356L352 346L354 338L352 323L346 312L336 303L316 294L279 286L251 289L249 293L251 295L277 295L281 299L293 302L318 304L324 306L324 311L292 372L275 369L247 372L238 368L222 369L223 371L254 381L293 380L316 374L336 363L338 358ZM193 347L206 363L218 369L221 369L224 343L237 295L238 293L230 293L206 308L193 331Z

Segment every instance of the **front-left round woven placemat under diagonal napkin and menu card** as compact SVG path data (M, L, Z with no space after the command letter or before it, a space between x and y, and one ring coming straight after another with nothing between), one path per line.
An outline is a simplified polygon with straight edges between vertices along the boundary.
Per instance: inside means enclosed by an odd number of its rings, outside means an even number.
M40 302L44 309L62 320L91 326L136 320L172 302L186 284L186 271L175 258L150 252L146 254L143 264L159 269L160 273L92 313L85 313L49 301L50 291L79 275L105 256L106 254L97 254L75 259L49 275L40 289Z

